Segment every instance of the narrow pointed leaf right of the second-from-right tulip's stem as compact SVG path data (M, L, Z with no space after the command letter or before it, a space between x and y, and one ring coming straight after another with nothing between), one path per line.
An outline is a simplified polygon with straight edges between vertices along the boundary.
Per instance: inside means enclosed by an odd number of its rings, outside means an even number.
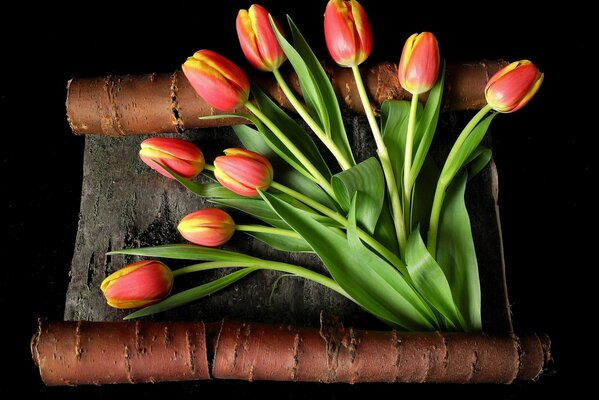
M408 187L412 187L420 169L424 164L424 160L428 155L428 150L433 142L435 131L437 130L437 121L439 120L439 112L441 111L441 100L443 97L443 88L445 82L445 62L439 73L439 78L435 86L431 89L424 106L424 111L420 115L418 126L414 135L414 149L416 154L413 157L412 167L410 169L410 177L408 178Z

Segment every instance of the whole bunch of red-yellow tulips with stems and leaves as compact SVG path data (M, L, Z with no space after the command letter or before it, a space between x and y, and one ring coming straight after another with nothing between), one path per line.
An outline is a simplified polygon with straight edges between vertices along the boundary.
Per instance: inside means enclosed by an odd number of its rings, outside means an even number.
M193 244L112 252L150 259L104 280L101 289L108 303L144 307L127 318L149 315L269 269L322 284L394 328L480 330L480 283L465 187L491 158L481 141L493 118L523 107L538 90L543 74L526 60L500 70L485 88L488 104L457 136L444 164L435 165L429 148L444 87L435 36L424 32L407 39L397 76L412 99L386 101L377 119L358 69L372 49L368 18L355 0L330 0L324 14L327 47L337 64L353 71L377 148L378 157L357 162L326 72L291 19L289 27L292 40L259 5L237 16L247 60L274 74L311 132L251 86L230 60L200 50L183 64L183 72L199 96L228 113L210 118L247 120L248 125L234 127L244 148L224 150L211 165L197 146L181 139L152 138L141 144L141 159L162 175L261 223L236 224L221 208L206 208L187 215L178 226ZM279 72L286 60L297 74L303 99ZM427 92L421 104L419 99ZM327 165L315 139L336 165ZM196 181L200 173L209 179ZM216 248L235 231L278 250L313 252L328 274ZM152 258L195 263L172 271ZM170 295L174 277L215 268L232 272Z

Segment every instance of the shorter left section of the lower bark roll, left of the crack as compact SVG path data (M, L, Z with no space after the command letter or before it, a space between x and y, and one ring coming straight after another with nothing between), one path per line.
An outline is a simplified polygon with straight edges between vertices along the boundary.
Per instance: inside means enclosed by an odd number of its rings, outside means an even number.
M31 340L48 386L210 379L202 322L45 322Z

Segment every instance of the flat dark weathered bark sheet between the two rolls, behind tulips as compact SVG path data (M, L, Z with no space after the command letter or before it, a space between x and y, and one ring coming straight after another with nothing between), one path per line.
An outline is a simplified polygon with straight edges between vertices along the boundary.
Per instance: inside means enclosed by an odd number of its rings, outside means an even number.
M463 121L457 121L460 119L463 116L445 115L441 126L444 131L459 132L452 127L461 128ZM374 154L366 119L347 116L345 123L356 158L362 160ZM438 136L437 153L446 153L452 136L448 133ZM198 144L209 162L221 154L222 149L237 144L231 128L204 129L177 137ZM143 139L145 136L86 137L81 211L65 320L119 320L125 316L127 311L106 305L99 287L105 276L137 258L107 257L105 253L122 248L183 243L176 230L178 221L207 205L204 199L186 192L177 182L153 173L139 160L137 152ZM511 322L496 197L497 175L491 163L469 184L467 202L481 274L483 324L488 332L505 332L511 330ZM235 218L241 220L238 214ZM241 233L237 233L225 248L324 271L315 255L274 251ZM187 264L191 262L169 262L173 268ZM186 275L176 282L174 290L207 282L224 273L210 271ZM205 321L231 318L316 326L320 312L324 311L341 316L347 325L384 328L355 304L318 284L300 278L280 277L277 272L256 272L220 293L154 318Z

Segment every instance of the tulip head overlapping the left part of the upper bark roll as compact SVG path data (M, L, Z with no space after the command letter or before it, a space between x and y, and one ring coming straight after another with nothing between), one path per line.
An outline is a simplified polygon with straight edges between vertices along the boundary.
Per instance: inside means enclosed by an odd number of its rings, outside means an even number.
M182 68L193 89L210 106L232 111L247 102L248 78L228 58L212 50L200 50L189 57Z

